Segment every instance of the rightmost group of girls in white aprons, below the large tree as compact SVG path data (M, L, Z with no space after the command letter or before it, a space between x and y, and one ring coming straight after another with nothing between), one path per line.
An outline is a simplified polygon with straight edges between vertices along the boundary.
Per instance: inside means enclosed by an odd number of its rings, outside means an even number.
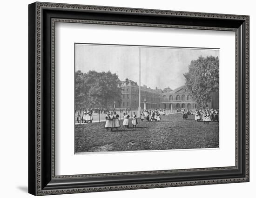
M209 125L209 122L219 121L219 112L215 109L205 109L203 111L195 110L195 121L203 121L203 124Z

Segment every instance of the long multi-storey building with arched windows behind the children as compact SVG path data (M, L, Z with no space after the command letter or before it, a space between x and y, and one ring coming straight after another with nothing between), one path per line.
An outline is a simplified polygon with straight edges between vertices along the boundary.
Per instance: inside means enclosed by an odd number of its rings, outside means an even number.
M137 109L139 106L139 86L136 82L126 79L118 85L121 88L121 100L115 102L116 108ZM170 87L152 89L146 85L141 86L141 109L196 109L202 108L193 100L187 86L180 86L174 90ZM219 94L213 93L208 108L219 108Z

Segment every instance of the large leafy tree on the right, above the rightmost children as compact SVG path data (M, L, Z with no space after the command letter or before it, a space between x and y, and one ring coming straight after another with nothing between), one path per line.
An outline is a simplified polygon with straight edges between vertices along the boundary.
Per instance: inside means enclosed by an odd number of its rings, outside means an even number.
M184 77L193 99L205 107L211 100L211 93L219 92L219 58L200 56L197 60L192 60L189 72L184 73Z

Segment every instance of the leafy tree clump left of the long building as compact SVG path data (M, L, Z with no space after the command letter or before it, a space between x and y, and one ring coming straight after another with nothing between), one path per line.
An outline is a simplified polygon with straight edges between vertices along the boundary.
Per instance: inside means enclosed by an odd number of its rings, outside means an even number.
M79 72L77 71L75 75L78 79L81 77ZM107 108L108 102L112 103L115 99L121 99L121 89L118 87L120 80L116 73L89 71L82 75L81 81L82 83L75 79L77 82L75 85L77 104L105 106ZM81 95L85 97L81 97Z

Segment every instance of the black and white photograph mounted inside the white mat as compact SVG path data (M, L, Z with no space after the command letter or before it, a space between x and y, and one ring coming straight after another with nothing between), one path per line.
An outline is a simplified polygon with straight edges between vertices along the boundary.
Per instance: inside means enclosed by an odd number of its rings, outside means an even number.
M74 48L75 153L219 148L220 49Z

